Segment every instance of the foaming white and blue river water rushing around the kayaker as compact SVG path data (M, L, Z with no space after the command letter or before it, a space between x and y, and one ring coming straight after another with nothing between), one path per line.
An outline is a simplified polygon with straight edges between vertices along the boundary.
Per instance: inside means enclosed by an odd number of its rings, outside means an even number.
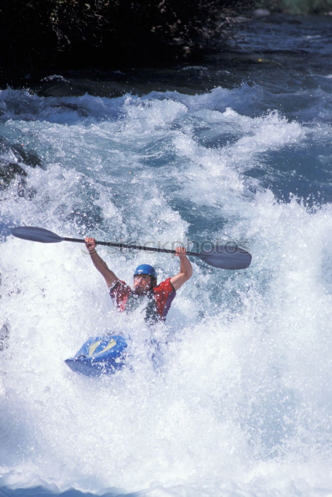
M331 25L268 17L199 66L0 91L2 168L22 168L0 204L0 496L332 495ZM234 241L253 259L192 260L149 329L114 310L83 245L15 239L21 225ZM128 282L138 263L178 271L166 254L100 254ZM130 335L132 367L69 370L108 331Z

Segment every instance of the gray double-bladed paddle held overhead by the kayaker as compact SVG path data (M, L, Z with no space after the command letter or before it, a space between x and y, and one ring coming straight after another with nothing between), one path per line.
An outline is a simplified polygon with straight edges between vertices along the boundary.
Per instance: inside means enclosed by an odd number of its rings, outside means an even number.
M24 240L31 240L32 242L41 242L43 244L52 244L56 242L79 242L85 243L80 238L67 238L59 237L55 233L44 228L36 228L35 226L19 226L13 228L11 233ZM145 247L142 245L127 245L122 243L113 242L96 242L97 245L105 245L107 247L117 248L134 248L136 250L147 250L148 252L164 252L175 253L175 250L168 248L153 248ZM251 255L244 248L231 245L216 245L211 247L211 250L202 250L201 252L187 252L187 255L194 255L204 260L211 266L219 267L220 269L245 269L249 267L251 262Z

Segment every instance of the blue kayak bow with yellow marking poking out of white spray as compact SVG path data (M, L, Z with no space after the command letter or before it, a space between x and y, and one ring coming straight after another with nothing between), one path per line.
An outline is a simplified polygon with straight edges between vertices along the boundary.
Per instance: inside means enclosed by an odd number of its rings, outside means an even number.
M126 347L122 335L91 337L65 363L73 371L88 376L111 375L125 366Z

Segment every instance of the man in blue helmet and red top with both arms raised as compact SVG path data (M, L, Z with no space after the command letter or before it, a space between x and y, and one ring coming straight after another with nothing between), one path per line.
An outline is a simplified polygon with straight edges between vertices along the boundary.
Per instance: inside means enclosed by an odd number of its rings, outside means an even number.
M186 248L177 247L175 255L180 257L178 274L157 285L157 273L154 267L149 264L140 264L134 271L133 288L130 288L109 269L106 262L98 255L96 241L87 237L85 242L95 267L105 278L110 289L110 297L117 310L123 312L136 309L142 303L142 298L145 298L144 319L150 324L165 321L176 291L193 274L192 265L186 255Z

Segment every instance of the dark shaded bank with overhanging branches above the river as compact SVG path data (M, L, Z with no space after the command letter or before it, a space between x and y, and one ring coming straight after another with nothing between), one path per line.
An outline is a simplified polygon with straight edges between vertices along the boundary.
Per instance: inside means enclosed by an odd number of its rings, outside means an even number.
M0 84L57 69L197 61L254 0L2 0Z

